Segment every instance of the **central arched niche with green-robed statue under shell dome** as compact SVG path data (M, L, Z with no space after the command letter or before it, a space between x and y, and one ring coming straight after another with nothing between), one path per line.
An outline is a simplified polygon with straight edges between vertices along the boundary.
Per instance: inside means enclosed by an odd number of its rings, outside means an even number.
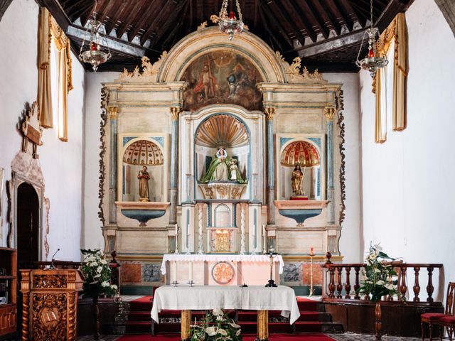
M196 130L196 177L204 199L242 197L249 178L250 133L231 114L213 114Z

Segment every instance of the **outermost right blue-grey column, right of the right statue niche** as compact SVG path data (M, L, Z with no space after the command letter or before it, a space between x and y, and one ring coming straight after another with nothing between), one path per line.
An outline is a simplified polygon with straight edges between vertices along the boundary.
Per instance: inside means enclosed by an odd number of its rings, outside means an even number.
M324 108L324 116L327 121L327 223L331 225L335 224L335 207L333 206L335 196L335 188L333 187L333 117L335 113L335 107Z

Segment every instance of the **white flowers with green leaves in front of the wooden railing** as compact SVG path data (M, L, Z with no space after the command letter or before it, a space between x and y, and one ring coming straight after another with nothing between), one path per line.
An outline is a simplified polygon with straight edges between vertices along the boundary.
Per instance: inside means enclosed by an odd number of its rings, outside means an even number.
M382 296L393 296L397 293L397 285L392 283L392 276L397 273L387 261L395 259L382 252L379 244L370 244L370 251L365 258L363 269L364 281L357 289L358 293L371 294L370 301L378 302Z

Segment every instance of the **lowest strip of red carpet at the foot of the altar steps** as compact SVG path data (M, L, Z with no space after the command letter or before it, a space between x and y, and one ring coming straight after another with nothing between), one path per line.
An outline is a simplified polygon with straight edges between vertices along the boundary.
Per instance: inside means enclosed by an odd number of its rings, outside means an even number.
M256 335L244 335L244 341L254 341ZM167 334L167 335L124 335L117 341L180 341L180 335L178 334ZM331 337L321 334L305 334L305 335L285 335L285 334L273 334L269 335L270 341L335 341Z

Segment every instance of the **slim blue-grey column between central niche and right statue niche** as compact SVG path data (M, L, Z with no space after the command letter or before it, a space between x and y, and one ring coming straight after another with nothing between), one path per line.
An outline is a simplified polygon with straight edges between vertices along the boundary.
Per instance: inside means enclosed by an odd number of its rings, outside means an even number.
M274 148L273 148L273 117L274 107L265 107L264 113L267 118L267 224L275 224L275 205L274 205Z

